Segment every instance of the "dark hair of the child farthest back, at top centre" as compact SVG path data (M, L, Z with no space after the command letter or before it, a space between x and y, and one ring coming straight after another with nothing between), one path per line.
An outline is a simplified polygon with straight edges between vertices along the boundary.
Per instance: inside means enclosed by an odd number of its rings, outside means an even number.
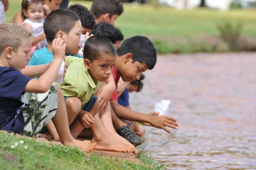
M108 13L110 17L114 14L121 15L124 11L120 0L94 0L91 7L91 12L98 18L101 14Z

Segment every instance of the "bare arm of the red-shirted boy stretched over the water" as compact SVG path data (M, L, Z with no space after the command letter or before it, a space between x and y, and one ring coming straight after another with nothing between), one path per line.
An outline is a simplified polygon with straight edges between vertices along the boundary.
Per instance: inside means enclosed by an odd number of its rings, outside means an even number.
M114 112L116 113L116 116L121 119L142 122L143 124L145 124L146 122L151 126L163 129L168 133L170 133L171 131L166 126L174 129L178 128L178 123L172 117L157 116L157 114L155 114L156 112L150 114L134 112L133 110L121 106L116 100L110 100L110 104Z

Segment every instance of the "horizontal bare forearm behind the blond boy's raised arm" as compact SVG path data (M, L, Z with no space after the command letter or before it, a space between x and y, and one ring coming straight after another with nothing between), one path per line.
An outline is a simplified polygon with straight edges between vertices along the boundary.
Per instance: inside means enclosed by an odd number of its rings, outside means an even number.
M44 74L44 72L46 72L49 66L50 64L43 64L39 66L26 66L21 70L21 73L30 78L35 78Z

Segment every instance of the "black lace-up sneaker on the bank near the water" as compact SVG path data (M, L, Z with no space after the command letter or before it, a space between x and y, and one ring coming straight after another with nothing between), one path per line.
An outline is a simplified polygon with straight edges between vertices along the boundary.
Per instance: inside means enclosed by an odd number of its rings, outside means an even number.
M134 132L132 132L132 130L130 129L130 125L132 124L132 122L129 122L129 124L127 126L121 126L118 130L116 130L116 132L122 136L123 138L125 138L126 140L128 140L131 144L133 144L134 146L138 146L141 144L141 140L140 137L137 136Z

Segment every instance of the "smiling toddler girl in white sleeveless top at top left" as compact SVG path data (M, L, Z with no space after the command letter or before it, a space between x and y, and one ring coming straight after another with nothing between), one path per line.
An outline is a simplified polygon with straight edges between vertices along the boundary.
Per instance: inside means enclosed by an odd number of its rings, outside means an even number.
M23 0L22 16L25 19L22 26L33 32L32 49L30 54L34 52L34 48L41 41L45 40L44 34L44 8L43 0Z

